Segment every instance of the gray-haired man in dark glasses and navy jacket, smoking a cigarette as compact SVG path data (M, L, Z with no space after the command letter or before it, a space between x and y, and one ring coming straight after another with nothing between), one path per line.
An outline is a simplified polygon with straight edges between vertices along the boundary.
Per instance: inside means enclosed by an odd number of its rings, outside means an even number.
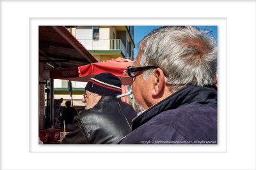
M215 41L192 26L154 29L132 77L132 132L120 144L217 144Z

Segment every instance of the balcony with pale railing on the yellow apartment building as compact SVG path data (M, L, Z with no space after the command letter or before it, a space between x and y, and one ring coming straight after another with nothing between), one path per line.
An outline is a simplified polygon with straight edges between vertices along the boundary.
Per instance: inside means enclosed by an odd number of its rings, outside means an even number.
M78 39L86 50L120 50L126 59L127 50L121 39Z

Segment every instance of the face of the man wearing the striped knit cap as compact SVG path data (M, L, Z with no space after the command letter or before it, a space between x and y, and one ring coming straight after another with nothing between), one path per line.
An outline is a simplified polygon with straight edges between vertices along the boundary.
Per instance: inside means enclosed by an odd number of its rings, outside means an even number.
M82 102L86 103L85 109L92 109L102 98L102 96L99 96L95 93L89 92L87 90L84 91L85 97L83 97Z

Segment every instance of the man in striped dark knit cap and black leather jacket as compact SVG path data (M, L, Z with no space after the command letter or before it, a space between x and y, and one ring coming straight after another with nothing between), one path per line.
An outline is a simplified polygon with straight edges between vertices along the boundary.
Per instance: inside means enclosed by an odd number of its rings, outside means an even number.
M117 99L122 94L120 79L111 73L91 78L84 88L86 110L74 117L73 131L63 144L118 143L131 132L131 120L136 117L133 108Z

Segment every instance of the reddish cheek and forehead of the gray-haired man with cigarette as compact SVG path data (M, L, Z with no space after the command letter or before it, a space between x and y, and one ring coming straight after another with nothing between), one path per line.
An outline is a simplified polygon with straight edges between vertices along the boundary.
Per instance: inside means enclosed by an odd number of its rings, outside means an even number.
M137 55L134 67L140 67L140 52ZM150 89L148 87L148 81L143 79L143 71L138 71L135 74L135 80L132 83L132 92L134 96L133 107L137 112L147 110L150 104L147 98L150 95Z

